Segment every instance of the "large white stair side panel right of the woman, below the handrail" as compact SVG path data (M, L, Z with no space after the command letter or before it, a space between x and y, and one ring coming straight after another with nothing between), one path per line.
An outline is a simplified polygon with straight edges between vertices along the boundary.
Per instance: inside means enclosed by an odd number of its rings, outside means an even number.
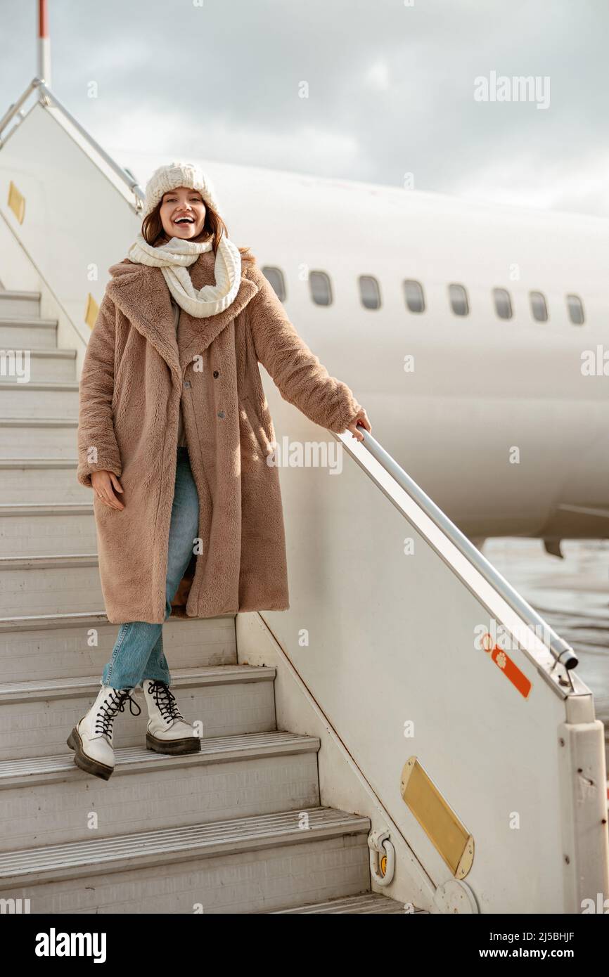
M285 404L266 376L265 391L280 446L289 431L292 444L326 441L338 451L339 441ZM518 643L507 652L531 683L524 698L508 669L476 647L482 631L513 633L518 616L419 516L444 547L439 555L346 450L333 467L280 468L290 608L261 616L436 885L452 871L400 792L413 755L473 835L465 881L480 912L581 912L587 892L564 871L566 859L574 864L565 850L574 829L561 803L559 739L574 710L578 722L593 721L591 695L578 682L579 695L566 699L547 677L549 651L528 632L528 652ZM334 804L331 784L321 786L322 802ZM602 804L594 811L587 844L597 868L587 880L602 891L607 834Z

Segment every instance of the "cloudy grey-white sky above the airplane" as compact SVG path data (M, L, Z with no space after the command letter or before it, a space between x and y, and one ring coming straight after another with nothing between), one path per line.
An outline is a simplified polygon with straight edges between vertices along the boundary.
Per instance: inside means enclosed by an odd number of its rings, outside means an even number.
M36 73L37 6L0 0L1 112ZM141 183L193 157L609 216L607 0L49 12L53 90ZM491 93L493 75L537 78L538 96L503 82L507 101L477 101L475 79Z

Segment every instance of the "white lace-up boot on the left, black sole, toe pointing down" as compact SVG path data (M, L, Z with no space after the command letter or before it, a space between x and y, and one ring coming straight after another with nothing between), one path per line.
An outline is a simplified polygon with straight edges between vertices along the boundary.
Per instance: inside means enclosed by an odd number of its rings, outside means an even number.
M89 711L79 719L67 738L67 745L74 750L74 763L81 770L108 781L114 770L112 747L112 723L119 712L124 712L129 701L132 716L142 709L131 698L131 689L112 689L103 685L98 698ZM137 712L133 711L135 705Z

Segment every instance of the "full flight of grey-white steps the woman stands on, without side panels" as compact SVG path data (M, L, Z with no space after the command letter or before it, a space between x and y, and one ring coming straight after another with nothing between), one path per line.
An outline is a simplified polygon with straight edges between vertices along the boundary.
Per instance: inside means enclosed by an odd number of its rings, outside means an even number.
M74 765L65 738L116 625L76 481L76 354L55 326L35 293L0 292L0 348L31 351L30 382L0 382L0 898L32 913L404 913L370 891L370 820L321 804L320 740L278 729L275 667L239 663L235 615L165 624L200 753L146 749L139 691L109 782Z

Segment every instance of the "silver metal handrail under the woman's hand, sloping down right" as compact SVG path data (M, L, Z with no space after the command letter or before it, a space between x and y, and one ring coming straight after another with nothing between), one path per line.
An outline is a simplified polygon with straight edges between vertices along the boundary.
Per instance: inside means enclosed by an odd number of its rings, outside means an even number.
M541 628L541 633L544 638L540 638L543 641L545 647L552 654L555 661L562 664L565 668L571 669L576 668L579 664L578 658L573 651L571 645L569 645L564 638L561 638L552 627L540 616L537 611L531 607L531 605L525 601L523 597L515 590L511 583L501 576L499 571L495 569L492 563L490 563L485 556L482 555L480 550L474 546L470 539L461 532L455 523L451 522L449 517L440 509L439 506L427 495L420 486L418 486L414 480L411 478L407 472L398 464L398 462L393 458L388 451L381 446L375 438L372 438L371 434L365 429L360 427L359 429L364 435L364 441L362 444L366 446L368 451L373 458L378 461L378 463L384 468L384 470L397 482L400 488L413 499L413 502L425 513L425 515L432 521L432 523L437 526L437 528L442 531L445 536L447 536L454 546L457 547L459 553L465 557L469 563L475 567L478 573L484 577L484 579L489 583L494 590L500 595L503 601L515 611L515 613L520 616L525 624L532 627L534 633L537 637L539 634L536 628ZM342 441L343 436L334 434L334 437ZM350 450L350 446L346 441L342 441L343 445ZM361 465L361 461L354 451L351 451L351 456L354 458L358 464ZM363 467L361 465L361 467ZM424 533L423 533L424 534Z

